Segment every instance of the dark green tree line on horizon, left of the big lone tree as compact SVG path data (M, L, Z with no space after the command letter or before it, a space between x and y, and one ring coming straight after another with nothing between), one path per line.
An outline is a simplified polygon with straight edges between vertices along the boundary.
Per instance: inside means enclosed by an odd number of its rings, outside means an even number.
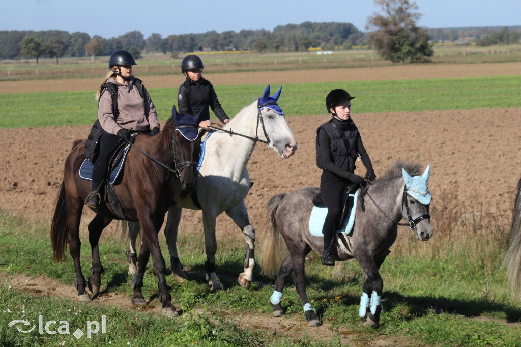
M146 39L140 31L105 39L84 32L62 30L3 30L0 31L0 59L107 56L118 49L126 49L138 56L142 52L175 54L203 50L298 52L310 47L350 48L364 42L362 31L350 23L304 22L279 26L272 32L261 29L218 33L212 30L198 34L171 34L166 38L152 33Z

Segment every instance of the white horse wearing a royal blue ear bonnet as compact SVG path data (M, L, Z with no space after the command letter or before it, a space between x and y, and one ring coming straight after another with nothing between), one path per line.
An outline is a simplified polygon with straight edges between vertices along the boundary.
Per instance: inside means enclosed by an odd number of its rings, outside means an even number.
M268 85L261 98L244 107L222 129L211 132L205 140L201 167L196 178L196 196L200 206L194 203L191 196L180 196L181 190L175 189L177 194L172 196L175 205L168 210L165 237L170 251L172 273L180 278L186 278L179 262L176 244L181 211L182 208L202 209L207 256L206 279L213 291L222 289L215 273L217 251L215 226L216 218L222 212L226 212L244 233L246 260L244 272L239 275L238 281L244 288L251 286L255 266L255 230L250 224L244 199L251 188L246 165L255 144L266 143L280 158L288 158L297 149L296 140L288 127L284 113L277 105L282 87L273 96L269 96L269 89ZM135 240L139 231L139 223L129 223L130 250L127 254L131 263L129 274L132 271L132 253L135 253ZM135 283L142 282L146 260L140 254L133 287ZM137 293L140 294L141 292Z

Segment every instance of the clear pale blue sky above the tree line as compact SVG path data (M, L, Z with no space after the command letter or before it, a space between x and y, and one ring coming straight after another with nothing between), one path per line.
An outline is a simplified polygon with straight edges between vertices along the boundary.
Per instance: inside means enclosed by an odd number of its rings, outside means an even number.
M320 4L320 6L317 6ZM427 28L521 25L521 0L416 0ZM139 30L152 33L272 31L279 25L347 22L365 31L367 18L380 12L372 0L6 0L0 30L81 31L109 39Z

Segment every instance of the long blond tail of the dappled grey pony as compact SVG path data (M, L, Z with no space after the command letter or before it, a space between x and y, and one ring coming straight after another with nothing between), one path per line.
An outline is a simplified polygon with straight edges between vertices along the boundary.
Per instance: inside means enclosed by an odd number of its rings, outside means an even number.
M277 220L275 213L279 207L280 202L287 194L278 194L273 196L268 202L268 208L261 228L261 237L259 244L261 244L261 274L269 277L274 277L278 274L280 265L282 264L284 255L284 241L282 240L277 227Z

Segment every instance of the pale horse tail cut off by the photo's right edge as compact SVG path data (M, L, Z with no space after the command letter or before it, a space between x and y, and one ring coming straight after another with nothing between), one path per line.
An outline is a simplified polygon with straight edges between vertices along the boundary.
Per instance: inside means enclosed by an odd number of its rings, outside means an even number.
M517 183L517 195L508 239L510 246L503 265L507 265L506 277L512 296L517 296L521 300L521 180Z

